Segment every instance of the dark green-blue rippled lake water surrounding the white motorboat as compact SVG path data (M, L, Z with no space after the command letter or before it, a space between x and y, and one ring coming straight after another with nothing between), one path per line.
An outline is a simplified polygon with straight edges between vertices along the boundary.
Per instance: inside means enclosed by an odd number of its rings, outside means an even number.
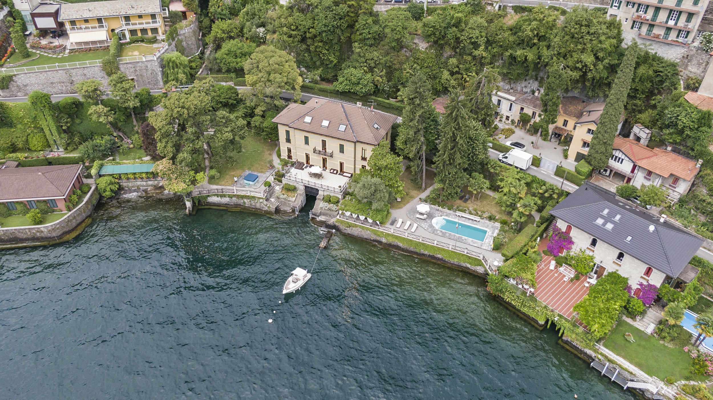
M336 236L283 296L321 238L145 201L1 252L0 399L633 399L481 278L370 243Z

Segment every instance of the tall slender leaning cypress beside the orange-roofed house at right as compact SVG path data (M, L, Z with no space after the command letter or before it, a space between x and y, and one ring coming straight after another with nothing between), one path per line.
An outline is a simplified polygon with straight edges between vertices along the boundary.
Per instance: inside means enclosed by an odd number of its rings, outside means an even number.
M617 127L627 95L629 95L629 87L631 78L634 75L634 66L636 65L636 56L639 46L636 40L632 39L631 44L626 50L624 60L619 66L617 78L614 80L612 89L609 92L609 98L602 110L602 116L599 118L599 125L594 131L592 144L587 154L587 162L594 169L602 169L607 167L609 158L612 157L612 147L614 145L614 137L617 135Z

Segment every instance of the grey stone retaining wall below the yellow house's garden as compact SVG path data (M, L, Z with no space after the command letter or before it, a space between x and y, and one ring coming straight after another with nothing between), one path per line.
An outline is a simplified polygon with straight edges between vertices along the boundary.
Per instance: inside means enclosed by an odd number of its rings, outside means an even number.
M61 58L58 58L61 60ZM157 90L163 88L163 75L157 60L131 61L119 63L119 70L133 78L137 88ZM98 79L108 90L108 78L101 65L88 67L66 68L60 70L45 70L16 74L9 88L0 90L2 97L20 97L29 95L32 90L42 90L51 94L76 93L72 88L82 80Z

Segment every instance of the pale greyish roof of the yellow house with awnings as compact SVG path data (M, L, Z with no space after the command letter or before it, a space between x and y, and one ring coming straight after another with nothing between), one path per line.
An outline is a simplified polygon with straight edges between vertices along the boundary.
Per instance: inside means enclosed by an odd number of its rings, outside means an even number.
M62 4L59 9L59 21L138 14L161 14L161 1L111 0Z

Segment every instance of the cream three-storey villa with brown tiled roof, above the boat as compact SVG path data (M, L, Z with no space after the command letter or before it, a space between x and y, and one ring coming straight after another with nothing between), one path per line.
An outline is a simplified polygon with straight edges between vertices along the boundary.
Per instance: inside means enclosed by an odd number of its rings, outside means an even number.
M282 158L316 165L332 174L354 174L367 168L371 149L391 140L396 115L313 98L292 103L272 122L279 128Z

